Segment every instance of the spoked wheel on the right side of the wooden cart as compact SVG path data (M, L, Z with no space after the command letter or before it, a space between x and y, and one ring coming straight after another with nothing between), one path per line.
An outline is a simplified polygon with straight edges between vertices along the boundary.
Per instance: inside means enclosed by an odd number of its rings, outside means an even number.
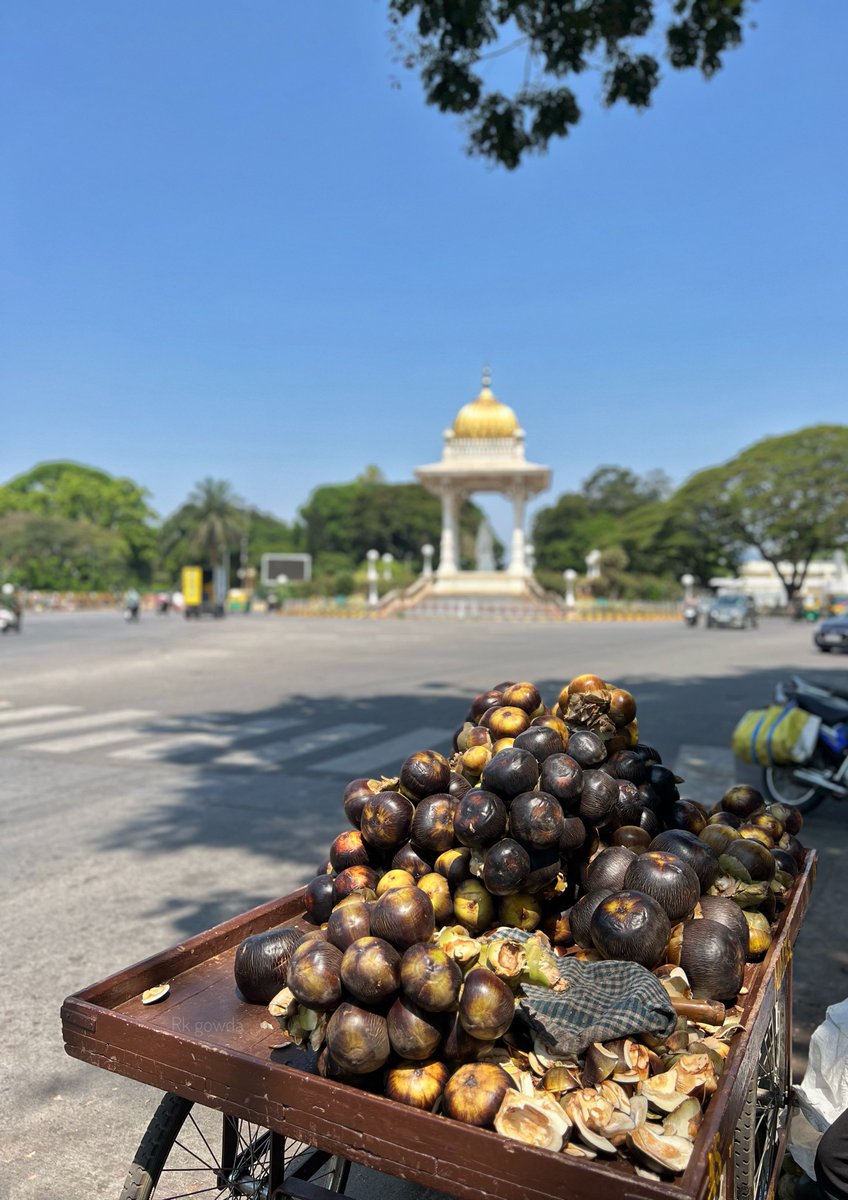
M778 1142L788 1120L789 1044L784 977L733 1135L732 1200L765 1200L775 1166L778 1165Z

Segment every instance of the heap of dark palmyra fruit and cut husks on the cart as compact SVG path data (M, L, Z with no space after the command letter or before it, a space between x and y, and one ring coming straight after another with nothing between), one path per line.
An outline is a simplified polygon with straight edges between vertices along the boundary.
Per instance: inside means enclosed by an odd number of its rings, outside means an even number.
M344 791L350 828L305 894L307 919L247 938L243 997L270 1003L317 1069L577 1158L685 1170L802 862L794 810L736 786L712 809L639 742L633 696L597 676L547 708L531 683L474 698L449 760ZM558 962L621 959L676 1013L577 1057L522 1016Z

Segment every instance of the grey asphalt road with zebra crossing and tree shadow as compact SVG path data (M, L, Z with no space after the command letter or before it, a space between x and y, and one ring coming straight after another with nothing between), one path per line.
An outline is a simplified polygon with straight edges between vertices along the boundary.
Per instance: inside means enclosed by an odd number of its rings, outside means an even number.
M666 623L517 625L42 614L0 642L0 1196L116 1195L154 1098L68 1060L68 992L314 874L344 826L347 780L446 748L468 698L530 678L553 698L593 670L631 688L643 737L716 799L736 778L738 715L799 670L848 682L810 629ZM844 810L848 816L848 810ZM796 954L804 1044L848 991L846 822L828 804ZM423 1196L397 1184L386 1195ZM355 1195L374 1195L367 1172Z

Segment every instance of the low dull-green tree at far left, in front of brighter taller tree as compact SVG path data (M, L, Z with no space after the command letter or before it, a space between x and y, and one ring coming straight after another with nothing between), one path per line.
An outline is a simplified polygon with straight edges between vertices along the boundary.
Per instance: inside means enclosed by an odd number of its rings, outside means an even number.
M91 521L6 512L0 516L0 576L42 592L112 592L128 582L126 545Z

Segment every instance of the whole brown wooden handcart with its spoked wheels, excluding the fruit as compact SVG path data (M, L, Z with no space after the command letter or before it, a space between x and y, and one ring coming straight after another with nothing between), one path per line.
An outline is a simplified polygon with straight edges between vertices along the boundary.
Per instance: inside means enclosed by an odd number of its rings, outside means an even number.
M65 1046L169 1093L142 1141L125 1200L318 1200L344 1189L351 1162L464 1200L770 1200L787 1132L792 948L814 872L811 851L769 954L746 967L744 1031L690 1166L670 1181L403 1108L312 1074L303 1051L273 1049L279 1031L263 1006L239 998L233 958L248 934L300 920L302 890L70 996ZM142 992L162 983L168 997L143 1006Z

